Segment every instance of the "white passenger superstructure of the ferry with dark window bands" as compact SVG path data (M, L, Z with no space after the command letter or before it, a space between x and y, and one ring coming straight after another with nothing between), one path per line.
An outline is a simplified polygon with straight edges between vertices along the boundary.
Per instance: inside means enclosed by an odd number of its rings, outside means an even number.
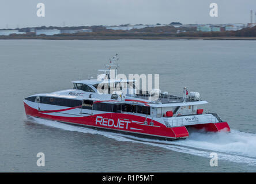
M151 117L175 117L200 114L202 110L197 105L206 104L199 99L179 97L160 93L157 101L150 101L148 91L138 91L135 80L81 80L73 81L74 90L57 91L57 93L40 95L38 98L28 97L28 101L39 104L77 107L81 112L93 113L93 110L113 113L144 114ZM82 90L81 94L80 91ZM138 93L137 93L138 91ZM62 95L63 94L63 95ZM104 94L104 95L102 95ZM73 99L71 99L73 98ZM89 112L88 110L91 110Z

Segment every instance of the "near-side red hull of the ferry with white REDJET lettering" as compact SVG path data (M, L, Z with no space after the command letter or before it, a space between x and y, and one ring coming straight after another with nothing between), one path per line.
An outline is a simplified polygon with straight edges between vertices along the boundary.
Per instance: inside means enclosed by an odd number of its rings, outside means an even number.
M189 136L189 132L187 131L185 126L168 128L155 120L153 120L153 125L150 125L150 122L152 121L150 118L148 118L146 120L147 123L144 124L145 117L135 116L131 114L104 113L93 114L92 116L86 117L64 117L44 114L37 109L31 108L30 106L25 104L25 102L24 107L26 114L29 116L78 125L85 125L92 128L103 128L110 131L135 133L137 135L146 135L165 139L180 139Z

